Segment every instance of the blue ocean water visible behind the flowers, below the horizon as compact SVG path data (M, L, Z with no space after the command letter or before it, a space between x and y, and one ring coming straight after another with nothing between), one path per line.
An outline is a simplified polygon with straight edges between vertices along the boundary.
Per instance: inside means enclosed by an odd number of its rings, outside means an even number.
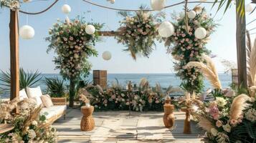
M58 77L62 79L60 74L42 74L42 80L45 77ZM128 84L129 81L132 82L132 84L139 84L142 78L148 79L148 82L151 86L155 86L156 83L159 83L162 88L167 88L170 85L173 87L179 87L179 84L181 84L181 80L179 77L176 77L175 74L108 74L108 85L111 85L112 82L116 82L116 79L118 79L119 84L122 84L125 86ZM93 82L93 75L90 74L89 77L87 77L91 82ZM219 74L219 80L222 83L222 87L229 87L229 85L232 83L232 77L230 74ZM68 81L66 82L68 84ZM46 89L45 84L43 82L39 82L38 84L42 90ZM204 89L211 88L211 85L208 81L204 81ZM0 98L8 98L9 94L1 94Z

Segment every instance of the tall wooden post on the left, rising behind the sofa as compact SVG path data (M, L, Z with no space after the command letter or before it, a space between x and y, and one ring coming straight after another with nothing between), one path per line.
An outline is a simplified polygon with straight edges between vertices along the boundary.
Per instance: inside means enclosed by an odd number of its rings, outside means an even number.
M10 66L11 66L11 95L10 99L19 97L19 24L18 10L10 10ZM16 110L17 112L18 110Z

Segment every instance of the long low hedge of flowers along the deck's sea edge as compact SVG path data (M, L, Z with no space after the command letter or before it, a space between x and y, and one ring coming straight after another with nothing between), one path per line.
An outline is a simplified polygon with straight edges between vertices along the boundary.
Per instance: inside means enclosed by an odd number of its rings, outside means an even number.
M103 90L100 86L89 85L80 89L80 94L83 94L90 99L95 109L98 110L128 110L131 104L133 111L162 111L164 97L166 93L174 91L172 88L166 89L163 92L160 85L149 87L146 79L141 80L138 89L131 91L124 89L118 84L113 84L112 87Z

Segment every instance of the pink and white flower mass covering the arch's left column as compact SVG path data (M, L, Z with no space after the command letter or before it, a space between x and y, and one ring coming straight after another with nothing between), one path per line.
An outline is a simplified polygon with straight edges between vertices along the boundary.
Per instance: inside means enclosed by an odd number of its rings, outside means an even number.
M99 40L98 33L87 34L85 32L88 24L83 19L74 19L65 22L58 21L49 29L46 41L49 41L50 50L54 50L56 69L64 78L71 79L89 74L91 64L87 61L89 56L97 56L98 52L93 48ZM95 29L100 30L102 24L93 24Z

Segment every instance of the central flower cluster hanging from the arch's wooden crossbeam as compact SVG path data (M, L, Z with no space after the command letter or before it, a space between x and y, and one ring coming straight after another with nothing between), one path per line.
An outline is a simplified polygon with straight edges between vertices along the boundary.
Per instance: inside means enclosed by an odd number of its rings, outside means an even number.
M153 16L148 11L135 12L119 12L124 17L120 21L120 34L115 37L118 43L124 44L128 48L124 51L130 51L133 59L138 54L148 57L155 46L155 39L158 36L156 21L161 21L161 16Z

